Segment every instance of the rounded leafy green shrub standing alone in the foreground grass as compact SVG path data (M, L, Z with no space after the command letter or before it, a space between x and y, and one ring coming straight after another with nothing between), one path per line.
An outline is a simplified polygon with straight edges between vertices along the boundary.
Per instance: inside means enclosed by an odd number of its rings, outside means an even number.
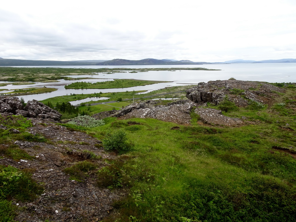
M131 145L127 142L126 132L123 130L117 130L113 133L107 132L103 139L103 147L105 150L115 150L119 153L125 153L131 149Z

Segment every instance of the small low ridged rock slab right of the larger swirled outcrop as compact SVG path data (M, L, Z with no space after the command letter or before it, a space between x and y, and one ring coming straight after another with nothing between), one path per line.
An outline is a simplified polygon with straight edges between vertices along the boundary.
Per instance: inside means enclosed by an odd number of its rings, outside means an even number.
M196 108L195 113L200 116L200 120L203 123L209 123L219 126L241 126L244 124L244 121L239 118L231 118L222 115L221 110L210 108Z

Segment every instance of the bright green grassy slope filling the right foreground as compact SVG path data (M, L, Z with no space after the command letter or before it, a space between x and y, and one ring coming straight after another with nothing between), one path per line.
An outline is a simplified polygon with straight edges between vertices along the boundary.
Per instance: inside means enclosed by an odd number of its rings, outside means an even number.
M104 221L294 221L296 97L224 114L246 126L182 126L155 119L105 119L99 139L123 130L132 151L114 162L126 199ZM293 97L292 97L293 96ZM194 115L193 115L194 116ZM293 158L294 157L294 158Z

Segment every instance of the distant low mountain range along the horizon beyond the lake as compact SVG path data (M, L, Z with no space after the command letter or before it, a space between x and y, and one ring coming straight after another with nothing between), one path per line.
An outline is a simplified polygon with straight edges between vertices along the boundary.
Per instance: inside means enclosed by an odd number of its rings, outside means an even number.
M229 60L225 62L192 62L190 60L175 59L112 59L112 60L76 60L76 61L52 61L52 60L25 60L25 59L3 59L0 58L0 66L52 66L52 65L203 65L203 64L224 64L224 63L287 63L296 62L296 59L278 60Z

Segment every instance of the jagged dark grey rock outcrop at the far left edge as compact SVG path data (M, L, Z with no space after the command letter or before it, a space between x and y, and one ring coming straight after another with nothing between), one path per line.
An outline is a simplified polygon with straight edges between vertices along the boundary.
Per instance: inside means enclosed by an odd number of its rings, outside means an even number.
M33 99L23 107L17 97L0 96L0 113L22 115L29 118L43 118L59 121L62 114Z

